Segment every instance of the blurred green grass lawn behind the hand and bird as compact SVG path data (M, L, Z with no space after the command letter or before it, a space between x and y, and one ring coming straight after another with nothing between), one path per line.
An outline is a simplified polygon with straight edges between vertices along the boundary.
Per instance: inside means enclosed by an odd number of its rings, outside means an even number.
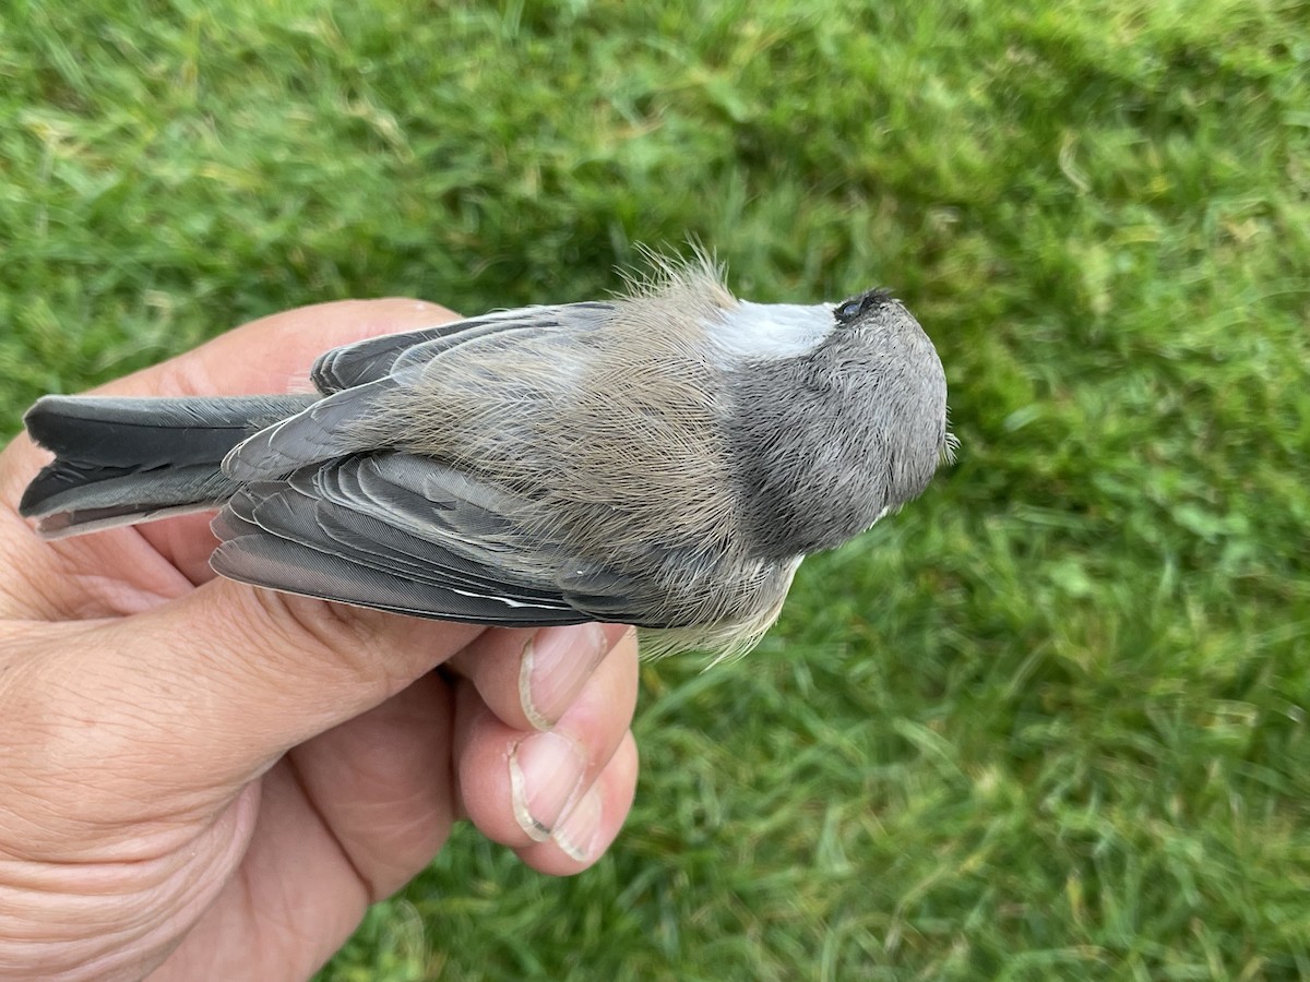
M229 326L886 284L959 464L647 665L569 881L462 829L322 978L1310 977L1310 4L0 4L0 410Z

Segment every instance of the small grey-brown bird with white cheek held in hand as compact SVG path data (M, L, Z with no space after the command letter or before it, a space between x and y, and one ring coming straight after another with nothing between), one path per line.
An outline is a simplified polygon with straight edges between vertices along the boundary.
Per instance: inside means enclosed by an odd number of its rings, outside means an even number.
M46 537L221 508L233 580L417 617L631 623L753 647L800 560L917 496L955 440L927 335L872 289L738 300L705 257L612 300L328 351L293 395L47 395ZM650 649L650 647L648 647Z

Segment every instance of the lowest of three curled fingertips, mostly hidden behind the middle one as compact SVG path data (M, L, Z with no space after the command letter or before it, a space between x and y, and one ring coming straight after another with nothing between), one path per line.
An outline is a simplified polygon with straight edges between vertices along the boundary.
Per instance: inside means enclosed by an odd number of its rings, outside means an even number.
M516 850L519 858L550 876L571 876L590 867L624 827L637 793L637 740L629 731L559 827L545 842Z

